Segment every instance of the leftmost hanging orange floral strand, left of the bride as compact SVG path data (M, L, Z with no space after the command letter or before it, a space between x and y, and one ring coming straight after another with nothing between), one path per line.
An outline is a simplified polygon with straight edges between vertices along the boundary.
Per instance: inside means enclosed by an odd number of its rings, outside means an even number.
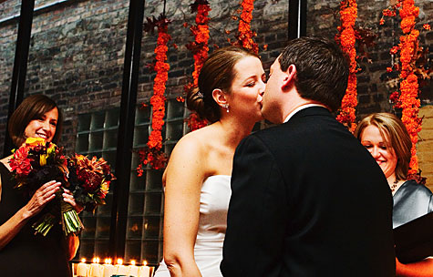
M139 176L143 174L143 166L149 164L152 169L163 169L167 165L167 155L162 149L162 126L164 125L165 114L165 84L169 78L170 65L166 63L167 51L171 37L168 34L168 26L170 21L165 15L160 15L158 19L148 18L148 23L145 25L145 30L153 30L156 26L158 29L158 41L155 48L156 62L154 70L157 72L153 80L153 96L150 97L150 105L152 106L152 130L149 135L148 145L145 149L139 150L139 167L137 173Z

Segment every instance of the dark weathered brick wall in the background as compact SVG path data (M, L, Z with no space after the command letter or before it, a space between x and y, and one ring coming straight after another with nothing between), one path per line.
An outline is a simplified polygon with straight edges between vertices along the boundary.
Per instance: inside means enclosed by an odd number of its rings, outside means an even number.
M56 1L36 1L36 8ZM193 1L172 0L167 3L167 16L172 20L169 32L171 43L170 72L167 96L182 93L183 86L191 80L193 59L185 45L192 40L190 30L182 24L193 24L191 14ZM368 27L376 33L376 46L367 49L371 62L360 62L363 69L358 73L358 118L374 111L390 111L388 88L381 77L390 65L389 48L397 44L400 35L398 18L387 18L385 26L379 26L381 11L388 1L358 1L357 25ZM339 1L308 1L307 33L335 36ZM8 0L0 4L0 21L19 13L20 1ZM433 16L432 1L416 1L420 7L420 18L426 23ZM261 47L260 55L267 69L278 56L287 40L288 0L256 0L253 11L253 30ZM66 115L62 144L67 151L75 147L77 115L90 110L119 107L125 36L129 1L67 1L37 12L34 16L32 39L26 77L26 95L44 93L57 100ZM239 1L211 1L211 42L226 46L227 38L234 39ZM158 16L162 12L160 0L146 1L145 17ZM430 21L430 24L432 22ZM5 134L5 117L10 92L10 79L15 55L17 22L0 23L0 141ZM418 26L419 28L419 26ZM225 31L232 31L227 35ZM146 64L154 57L157 34L143 34L141 68L139 72L139 101L147 101L152 93L155 73ZM421 32L421 45L433 42L433 31ZM263 50L267 45L267 50ZM431 56L431 55L430 55ZM421 98L424 105L432 100L431 86L424 87ZM428 136L428 135L425 135ZM427 138L427 137L426 137ZM3 143L0 144L0 150ZM423 150L420 149L420 152Z

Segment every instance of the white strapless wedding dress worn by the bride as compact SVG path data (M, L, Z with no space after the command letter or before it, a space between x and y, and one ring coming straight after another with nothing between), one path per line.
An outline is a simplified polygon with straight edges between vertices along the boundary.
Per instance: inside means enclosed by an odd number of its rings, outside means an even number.
M203 277L221 277L222 243L227 229L227 210L232 195L228 175L213 175L201 186L200 219L194 257ZM155 277L170 277L164 261Z

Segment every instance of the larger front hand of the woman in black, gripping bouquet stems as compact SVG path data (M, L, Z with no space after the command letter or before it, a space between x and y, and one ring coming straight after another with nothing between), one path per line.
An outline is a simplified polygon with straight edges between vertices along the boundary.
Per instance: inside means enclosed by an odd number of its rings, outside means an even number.
M45 183L42 187L36 190L31 200L24 207L25 217L31 218L39 211L44 209L46 204L56 197L56 192L60 190L61 183L56 180L51 180Z

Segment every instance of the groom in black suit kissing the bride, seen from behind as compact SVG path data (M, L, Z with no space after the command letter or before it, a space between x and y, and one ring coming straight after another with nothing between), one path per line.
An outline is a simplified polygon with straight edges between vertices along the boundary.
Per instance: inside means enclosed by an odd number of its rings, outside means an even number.
M331 114L347 77L324 38L294 39L273 63L262 113L281 125L236 149L223 276L395 276L387 180Z

